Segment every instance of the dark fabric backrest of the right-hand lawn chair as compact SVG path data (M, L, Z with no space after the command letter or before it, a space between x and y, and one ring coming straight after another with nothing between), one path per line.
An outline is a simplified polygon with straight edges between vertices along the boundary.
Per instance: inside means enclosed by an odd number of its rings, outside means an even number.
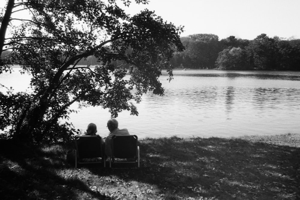
M114 135L112 153L115 158L135 158L137 156L136 135Z

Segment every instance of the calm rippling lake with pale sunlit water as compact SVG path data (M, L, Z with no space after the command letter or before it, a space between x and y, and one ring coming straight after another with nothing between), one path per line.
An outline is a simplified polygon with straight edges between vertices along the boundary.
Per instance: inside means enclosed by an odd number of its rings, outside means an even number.
M0 83L27 89L28 75L0 75ZM169 83L163 71L164 96L151 93L117 118L119 128L145 137L229 137L300 132L300 72L174 70ZM3 89L2 89L3 90ZM72 105L76 108L76 105ZM100 107L72 113L69 122L82 132L88 123L107 136L110 114Z

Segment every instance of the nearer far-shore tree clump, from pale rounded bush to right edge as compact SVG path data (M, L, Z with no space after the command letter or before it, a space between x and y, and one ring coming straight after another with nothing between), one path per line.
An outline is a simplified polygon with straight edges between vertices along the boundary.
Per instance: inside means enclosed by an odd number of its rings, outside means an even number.
M230 36L220 43L225 47L216 60L220 70L300 70L300 40L260 34L250 41ZM229 54L234 48L240 48L240 56Z

